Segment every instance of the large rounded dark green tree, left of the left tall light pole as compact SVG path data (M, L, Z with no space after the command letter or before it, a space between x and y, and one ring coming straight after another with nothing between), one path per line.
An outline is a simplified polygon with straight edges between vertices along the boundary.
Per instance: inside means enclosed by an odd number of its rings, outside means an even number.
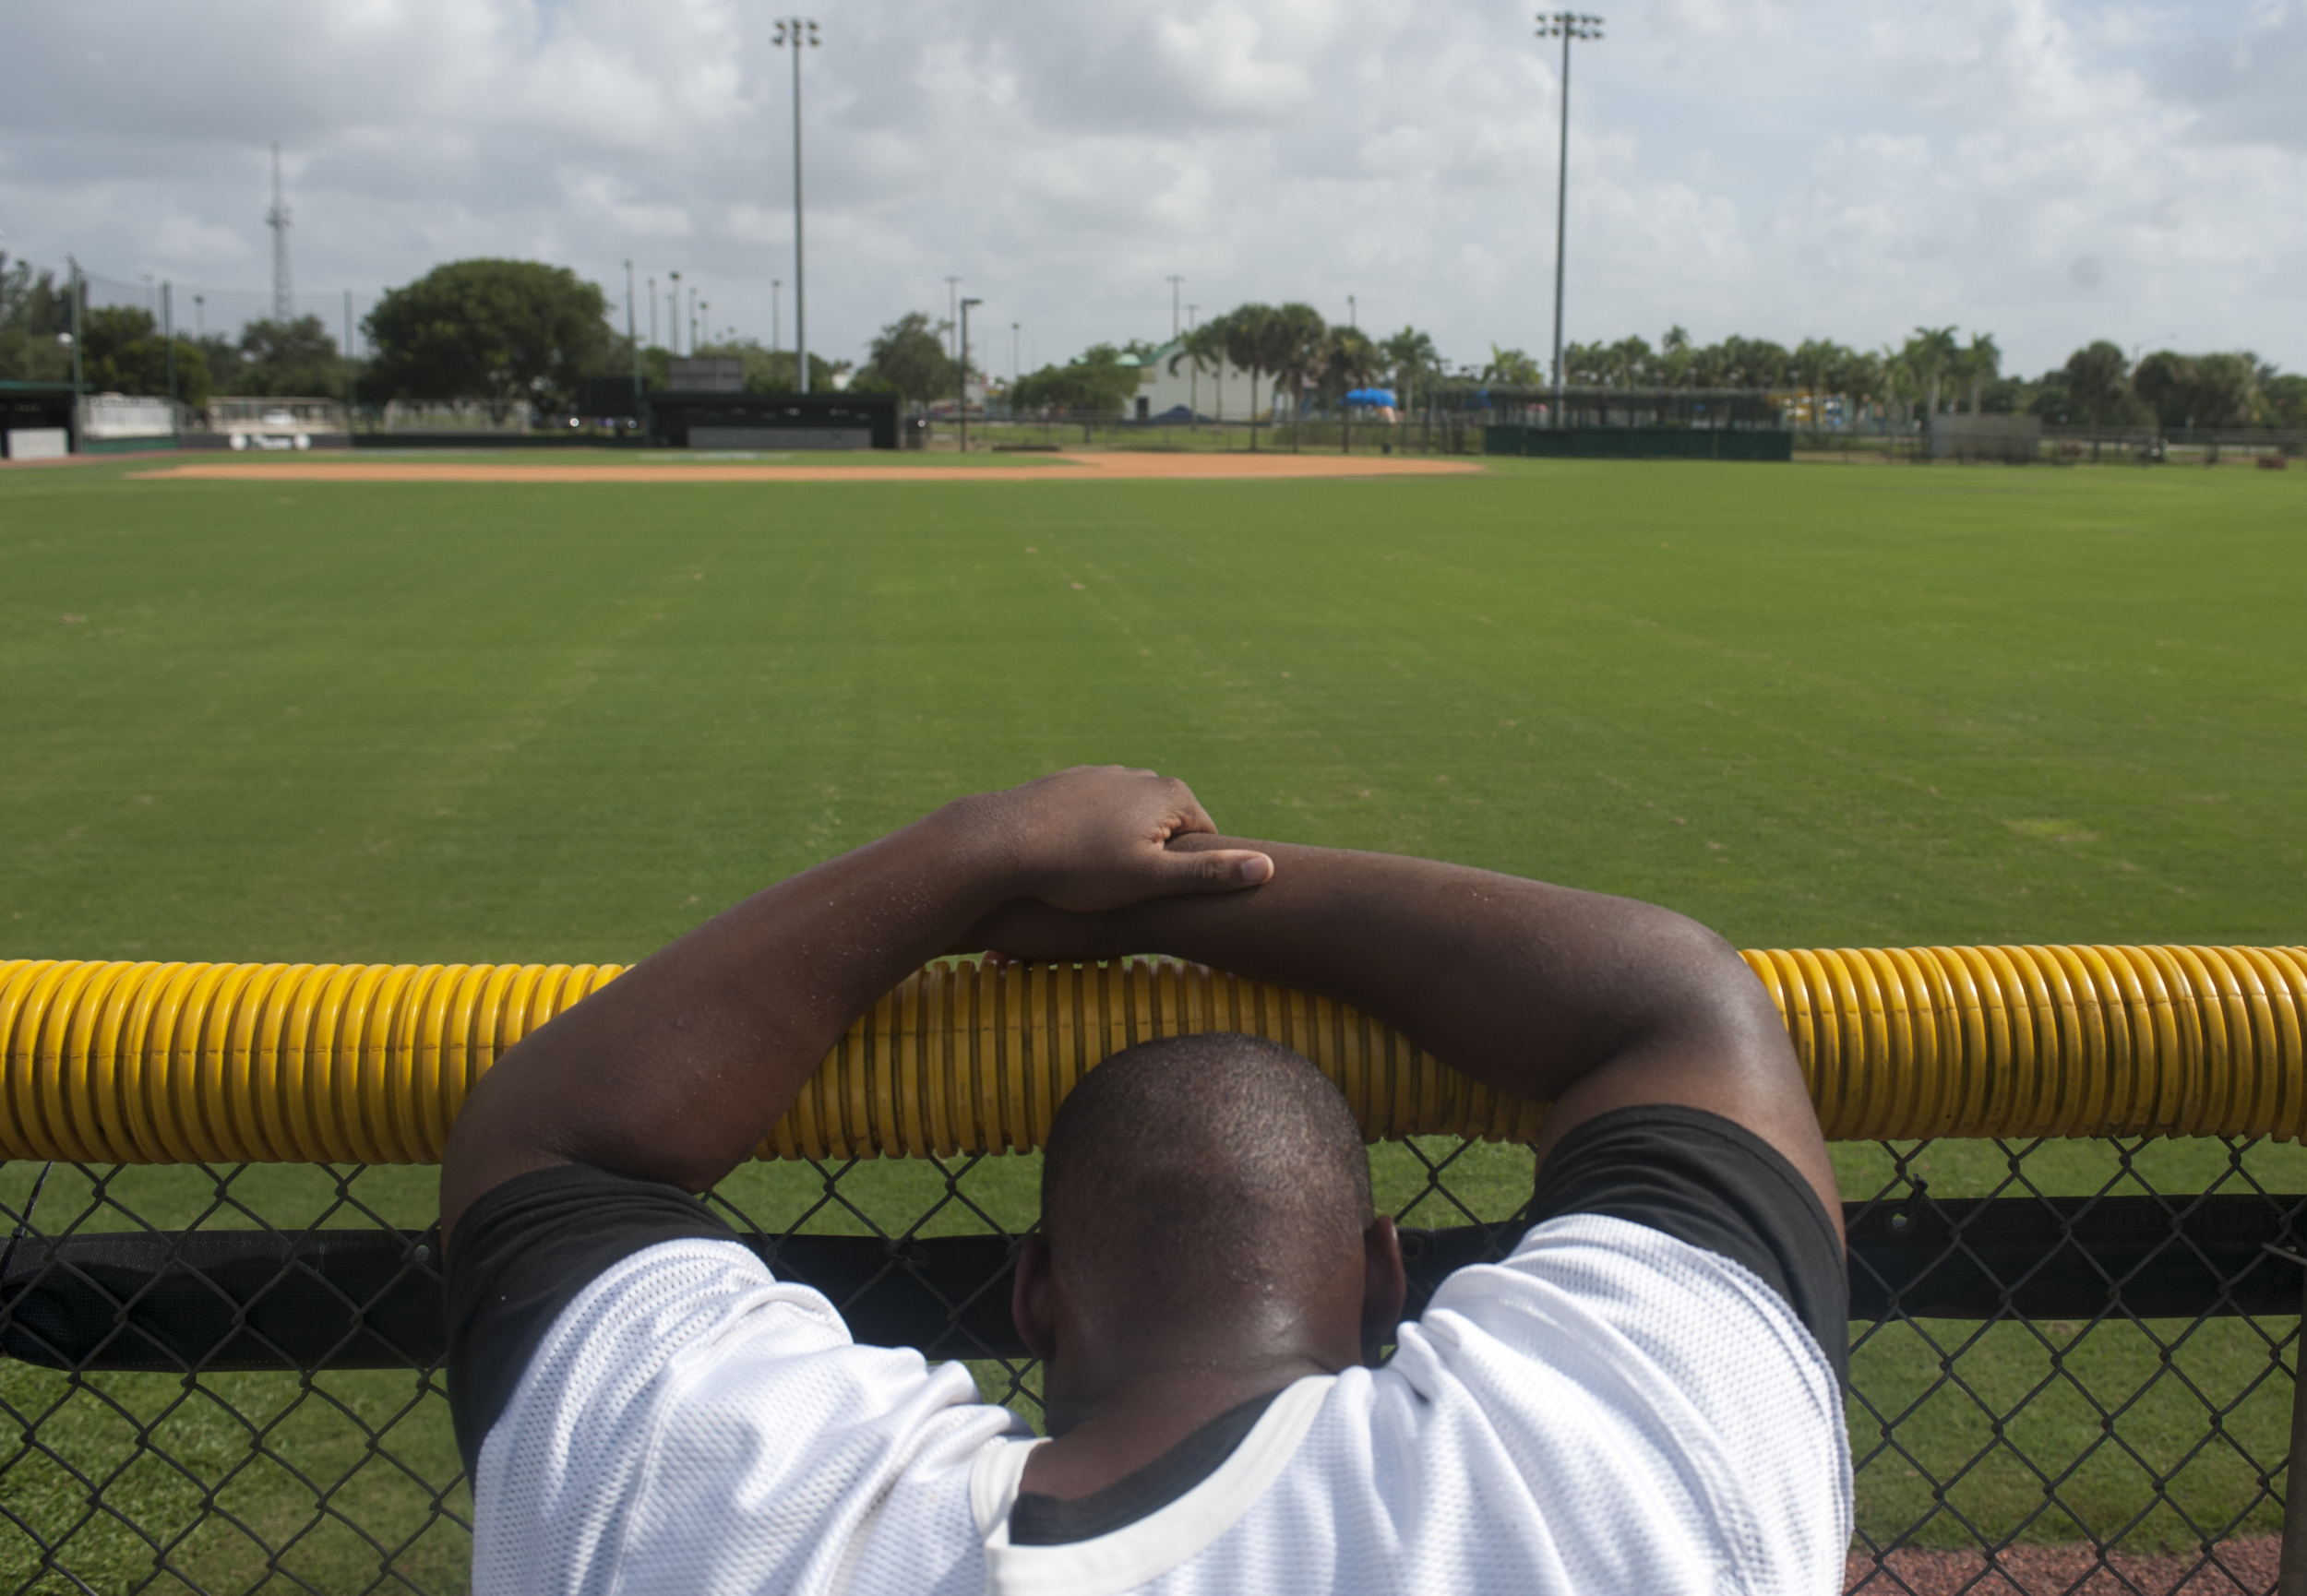
M565 265L452 261L390 291L362 321L374 399L484 399L565 408L609 346L609 302Z

